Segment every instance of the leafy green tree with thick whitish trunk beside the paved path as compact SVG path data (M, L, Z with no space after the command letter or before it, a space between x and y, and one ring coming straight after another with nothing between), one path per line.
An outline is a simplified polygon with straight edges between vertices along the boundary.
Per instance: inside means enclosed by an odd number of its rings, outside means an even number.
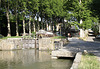
M72 0L71 12L80 23L80 37L83 36L83 29L91 28L91 0Z

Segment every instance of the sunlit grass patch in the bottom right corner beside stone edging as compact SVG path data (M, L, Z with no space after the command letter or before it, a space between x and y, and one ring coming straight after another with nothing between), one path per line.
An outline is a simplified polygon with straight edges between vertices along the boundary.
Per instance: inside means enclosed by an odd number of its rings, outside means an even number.
M78 69L100 69L100 63L93 54L86 54L82 56Z

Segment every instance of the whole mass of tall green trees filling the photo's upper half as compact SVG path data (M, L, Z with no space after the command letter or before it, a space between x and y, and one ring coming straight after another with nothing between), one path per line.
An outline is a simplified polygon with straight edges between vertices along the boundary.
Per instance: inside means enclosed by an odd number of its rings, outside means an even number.
M100 0L0 0L0 34L19 36L29 30L47 30L48 25L55 29L65 19L65 24L91 29L100 22L99 7Z

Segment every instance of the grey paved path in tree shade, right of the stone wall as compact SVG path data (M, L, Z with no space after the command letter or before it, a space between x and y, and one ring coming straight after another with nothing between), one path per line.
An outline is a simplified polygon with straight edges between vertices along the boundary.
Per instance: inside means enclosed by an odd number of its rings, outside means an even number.
M67 49L73 52L83 52L84 50L87 50L89 53L93 53L99 57L100 60L100 42L82 41L75 37L69 38L69 41L69 44L65 45L63 49Z

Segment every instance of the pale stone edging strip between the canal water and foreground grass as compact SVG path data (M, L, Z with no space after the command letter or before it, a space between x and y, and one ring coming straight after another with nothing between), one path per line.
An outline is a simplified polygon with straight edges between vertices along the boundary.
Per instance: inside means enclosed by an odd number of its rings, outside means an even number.
M82 57L82 52L78 52L75 56L75 59L70 69L78 69L78 65L81 61L81 57Z

